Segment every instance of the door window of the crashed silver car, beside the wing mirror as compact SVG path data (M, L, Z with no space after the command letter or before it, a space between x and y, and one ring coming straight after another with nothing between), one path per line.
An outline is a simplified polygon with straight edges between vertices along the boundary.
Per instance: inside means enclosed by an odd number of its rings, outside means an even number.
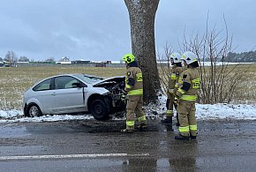
M55 78L55 89L68 89L72 88L73 83L80 83L78 79L72 77L56 77Z

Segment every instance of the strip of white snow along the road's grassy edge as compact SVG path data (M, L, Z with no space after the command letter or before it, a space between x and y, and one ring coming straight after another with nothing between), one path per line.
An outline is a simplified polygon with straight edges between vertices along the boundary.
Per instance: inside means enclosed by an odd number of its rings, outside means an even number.
M150 104L144 107L144 111L148 117L162 118L165 108L166 96L159 96L159 103ZM198 120L256 120L256 105L246 104L196 104L196 116ZM55 122L55 121L71 121L71 120L88 120L94 119L90 114L82 115L54 115L40 117L23 116L21 110L0 110L0 123L20 123L20 122ZM120 117L114 117L118 120ZM124 117L122 117L124 119Z

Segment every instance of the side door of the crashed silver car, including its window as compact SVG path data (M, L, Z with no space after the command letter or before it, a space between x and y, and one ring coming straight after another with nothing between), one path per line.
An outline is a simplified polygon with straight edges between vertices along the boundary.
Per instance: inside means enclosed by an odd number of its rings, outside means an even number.
M72 84L81 83L71 76L60 76L54 79L54 92L51 94L53 111L56 114L75 113L85 111L82 87Z

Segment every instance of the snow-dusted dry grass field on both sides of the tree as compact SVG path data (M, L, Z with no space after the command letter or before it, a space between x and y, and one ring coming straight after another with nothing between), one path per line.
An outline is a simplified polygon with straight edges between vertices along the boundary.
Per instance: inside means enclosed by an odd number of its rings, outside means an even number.
M245 72L248 66L239 68ZM21 109L22 96L27 88L35 82L57 74L87 73L104 78L124 75L125 68L96 67L19 67L0 68L0 109ZM256 64L245 72L245 82L241 83L235 93L234 103L255 103L256 97Z

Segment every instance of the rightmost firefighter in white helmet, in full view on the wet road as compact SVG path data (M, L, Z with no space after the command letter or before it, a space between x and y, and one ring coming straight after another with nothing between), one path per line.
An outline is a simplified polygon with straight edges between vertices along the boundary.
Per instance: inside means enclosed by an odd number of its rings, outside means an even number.
M200 88L200 72L197 69L199 63L197 56L190 51L184 52L182 58L184 64L187 64L187 69L180 76L176 92L180 126L179 134L175 136L175 139L196 139L198 126L195 116L195 102Z

